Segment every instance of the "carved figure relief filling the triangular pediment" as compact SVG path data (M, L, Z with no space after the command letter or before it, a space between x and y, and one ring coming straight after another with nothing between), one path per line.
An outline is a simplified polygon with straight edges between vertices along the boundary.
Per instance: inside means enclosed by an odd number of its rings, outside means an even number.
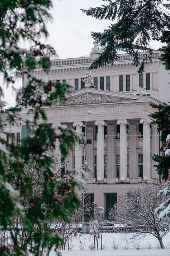
M66 102L58 102L57 104L53 105L81 105L81 104L96 104L96 103L114 103L114 102L121 102L125 101L124 99L112 99L107 95L101 94L93 94L93 93L86 93L79 95L77 97L73 97L68 99Z

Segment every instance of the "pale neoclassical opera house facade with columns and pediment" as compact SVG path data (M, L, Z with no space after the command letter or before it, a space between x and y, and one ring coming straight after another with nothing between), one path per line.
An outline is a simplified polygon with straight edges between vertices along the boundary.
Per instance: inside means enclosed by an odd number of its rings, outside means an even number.
M159 181L151 155L159 154L160 142L156 126L149 117L155 112L150 103L168 102L170 79L158 59L158 51L154 52L153 63L146 63L143 74L137 73L131 57L124 53L119 54L120 59L113 66L92 70L95 87L86 87L82 80L98 54L52 60L48 74L37 67L33 75L43 81L60 80L73 88L66 94L66 103L56 101L51 107L44 108L48 123L54 129L66 124L77 133L84 133L86 117L88 111L91 112L87 118L85 160L92 171L85 176L85 193L99 207L104 207L107 214L117 195L141 182ZM23 86L26 82L26 77L23 77ZM139 87L146 87L150 96L137 95ZM3 116L6 131L14 133L15 138L28 136L24 123L27 110L22 109L20 117L22 121L18 120L18 126L9 126ZM66 159L67 169L82 168L85 149L79 143L72 145Z

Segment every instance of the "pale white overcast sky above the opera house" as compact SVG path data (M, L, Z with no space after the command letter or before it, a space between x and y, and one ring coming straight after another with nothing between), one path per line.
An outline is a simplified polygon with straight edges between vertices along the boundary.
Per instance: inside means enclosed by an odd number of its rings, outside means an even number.
M80 9L100 6L102 3L105 2L102 0L53 0L53 23L47 26L49 31L47 43L55 48L60 59L80 57L90 53L93 47L90 32L101 32L110 22L86 16ZM157 49L159 46L159 42L151 42L152 48ZM17 81L16 85L22 86L22 81ZM10 88L5 89L4 92L6 107L14 106L14 93Z

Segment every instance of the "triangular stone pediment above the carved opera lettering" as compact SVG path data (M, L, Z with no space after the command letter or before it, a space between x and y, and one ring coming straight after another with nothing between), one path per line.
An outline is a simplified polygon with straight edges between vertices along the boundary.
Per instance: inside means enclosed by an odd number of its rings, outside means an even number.
M137 100L149 101L150 97L144 97L144 96L139 96L134 94L118 93L114 91L104 91L104 90L93 89L88 87L88 88L84 88L84 89L66 94L66 98L67 98L67 101L58 100L54 102L52 106L123 103L128 101L134 102Z

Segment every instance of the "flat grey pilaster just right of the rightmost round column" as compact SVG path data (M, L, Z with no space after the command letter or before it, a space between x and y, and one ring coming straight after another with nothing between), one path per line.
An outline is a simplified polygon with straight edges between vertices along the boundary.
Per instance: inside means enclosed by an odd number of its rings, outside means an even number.
M152 125L152 136L151 136L151 143L152 143L152 156L153 154L159 155L159 133L157 133L157 125ZM155 179L159 179L159 174L156 171L156 167L153 165L157 165L157 162L151 160L151 177Z

